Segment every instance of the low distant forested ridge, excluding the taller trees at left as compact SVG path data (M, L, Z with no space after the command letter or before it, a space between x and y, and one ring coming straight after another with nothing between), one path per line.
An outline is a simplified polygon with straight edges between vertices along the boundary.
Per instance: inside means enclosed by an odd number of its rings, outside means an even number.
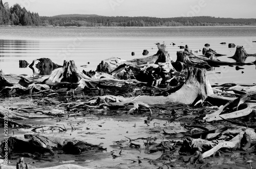
M91 17L41 17L42 22L53 26L77 27L177 27L177 26L256 26L256 19L197 17L127 17L127 16L91 16Z

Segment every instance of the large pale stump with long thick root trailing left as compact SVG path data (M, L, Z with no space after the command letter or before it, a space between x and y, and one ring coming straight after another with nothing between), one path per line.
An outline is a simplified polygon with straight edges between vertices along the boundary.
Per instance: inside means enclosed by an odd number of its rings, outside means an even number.
M104 100L108 98L114 101L114 103L105 103L105 106L127 106L133 104L132 108L128 113L133 112L138 109L139 105L144 107L165 105L169 103L184 103L192 104L195 100L205 100L208 95L212 95L213 91L211 89L210 83L207 79L206 69L200 68L189 68L187 80L184 85L176 92L169 94L168 96L137 96L131 98L123 98L121 96L101 96L100 99ZM96 102L96 98L91 98L89 103Z

